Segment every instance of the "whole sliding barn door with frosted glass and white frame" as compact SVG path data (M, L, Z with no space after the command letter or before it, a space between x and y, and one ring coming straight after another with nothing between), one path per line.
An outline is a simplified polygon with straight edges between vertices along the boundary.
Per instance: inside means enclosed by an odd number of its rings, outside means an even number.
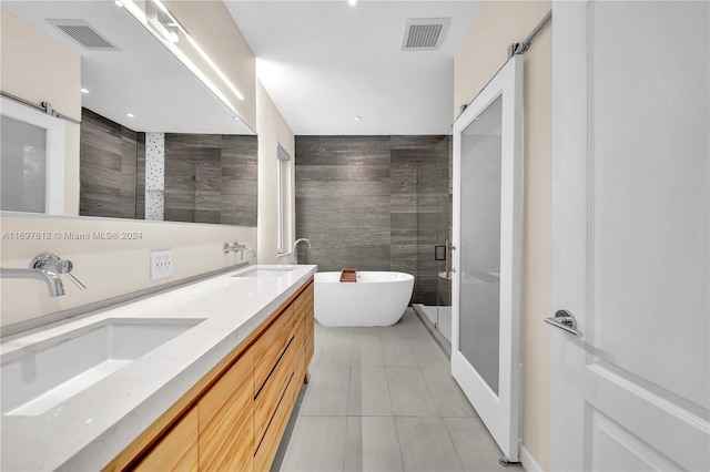
M452 373L518 460L523 58L454 123Z

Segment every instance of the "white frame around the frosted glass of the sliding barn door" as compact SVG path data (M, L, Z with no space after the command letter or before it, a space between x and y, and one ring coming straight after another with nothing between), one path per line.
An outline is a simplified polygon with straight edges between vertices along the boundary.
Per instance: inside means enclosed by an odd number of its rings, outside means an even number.
M459 351L462 132L499 96L501 119L500 291L498 394ZM520 253L523 206L523 57L514 55L454 123L452 374L508 461L519 453Z

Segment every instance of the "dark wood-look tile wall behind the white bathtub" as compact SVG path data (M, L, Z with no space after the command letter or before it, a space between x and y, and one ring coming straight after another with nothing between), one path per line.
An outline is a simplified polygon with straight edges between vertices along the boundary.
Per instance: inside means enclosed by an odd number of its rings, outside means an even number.
M435 305L434 246L449 226L449 136L296 136L298 260L318 270L415 276L413 302ZM444 164L442 164L444 158ZM442 213L442 211L448 214ZM446 217L446 222L442 218ZM447 234L448 230L444 230Z

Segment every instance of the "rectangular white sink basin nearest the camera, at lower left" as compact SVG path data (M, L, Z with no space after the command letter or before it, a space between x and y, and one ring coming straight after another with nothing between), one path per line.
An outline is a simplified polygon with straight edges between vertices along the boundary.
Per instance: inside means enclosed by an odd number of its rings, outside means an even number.
M9 352L0 366L2 414L42 414L201 321L105 319Z

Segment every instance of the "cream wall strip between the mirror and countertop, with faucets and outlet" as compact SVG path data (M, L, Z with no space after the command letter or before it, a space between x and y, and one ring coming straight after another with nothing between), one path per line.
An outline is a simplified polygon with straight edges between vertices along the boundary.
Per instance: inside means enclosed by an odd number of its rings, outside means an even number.
M40 253L54 253L74 264L74 274L87 289L80 291L64 278L67 295L51 298L40 280L0 280L1 324L26 321L42 315L80 307L164 283L209 273L241 263L240 255L224 254L224 243L256 247L256 228L187 223L141 222L120 218L61 216L2 216L3 235L37 232L51 239L3 239L2 267L28 267ZM102 234L134 234L136 239L104 240ZM88 235L71 239L68 235ZM173 276L151 280L150 252L173 250ZM250 260L250 256L244 256Z

